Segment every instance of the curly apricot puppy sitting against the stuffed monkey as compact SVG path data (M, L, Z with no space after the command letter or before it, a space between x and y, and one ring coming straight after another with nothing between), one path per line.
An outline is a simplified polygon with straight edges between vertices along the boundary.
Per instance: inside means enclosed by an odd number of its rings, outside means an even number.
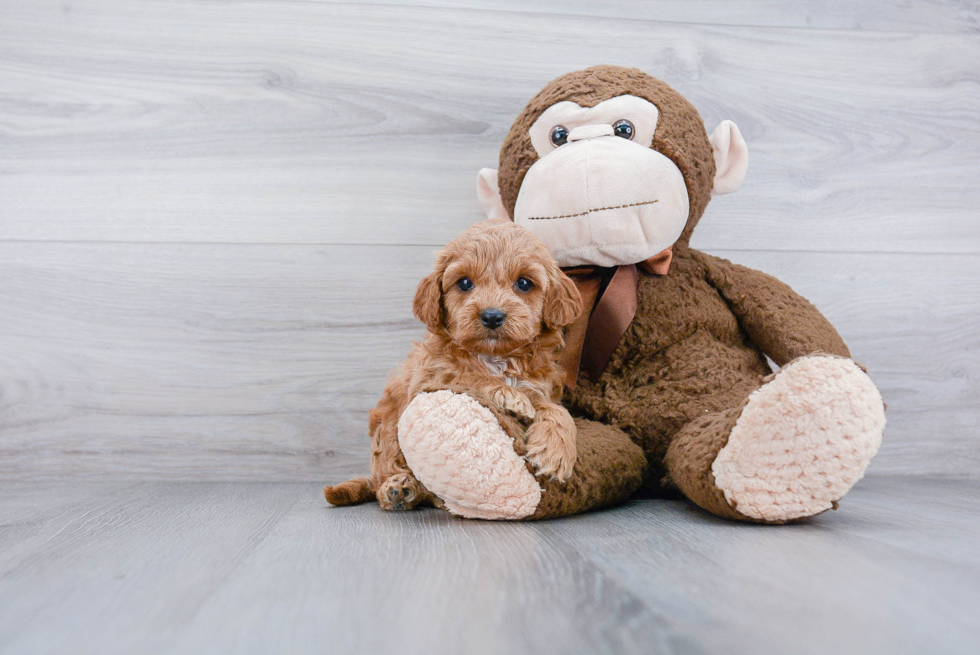
M451 389L529 424L527 458L564 481L575 465L575 424L558 401L562 328L582 312L575 284L531 232L506 220L477 223L436 257L413 312L428 328L371 410L371 475L326 487L333 505L372 497L383 509L439 504L412 475L398 445L398 419L424 392Z

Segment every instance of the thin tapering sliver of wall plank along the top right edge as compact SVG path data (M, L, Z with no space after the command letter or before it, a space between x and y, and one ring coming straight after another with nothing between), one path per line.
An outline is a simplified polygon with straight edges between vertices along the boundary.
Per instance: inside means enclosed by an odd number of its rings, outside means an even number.
M344 1L344 0L338 0ZM385 4L444 9L486 9L594 18L629 18L706 25L750 27L802 27L837 30L878 30L976 34L980 31L980 3L907 2L884 0L359 0L359 4Z

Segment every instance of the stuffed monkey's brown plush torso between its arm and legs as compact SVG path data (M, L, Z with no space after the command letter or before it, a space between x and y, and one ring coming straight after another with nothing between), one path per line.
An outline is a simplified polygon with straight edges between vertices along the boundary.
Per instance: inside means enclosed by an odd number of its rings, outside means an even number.
M640 276L636 317L599 381L580 375L566 397L573 414L629 434L657 480L666 475L667 447L684 426L741 406L771 373L704 266L689 248L674 251L669 275Z

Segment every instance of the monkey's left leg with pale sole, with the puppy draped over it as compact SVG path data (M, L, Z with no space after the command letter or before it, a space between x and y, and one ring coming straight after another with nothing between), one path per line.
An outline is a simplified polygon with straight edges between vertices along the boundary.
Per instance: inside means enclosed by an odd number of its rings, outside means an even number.
M523 426L472 391L416 396L398 433L412 470L445 499L449 512L537 520L620 503L640 486L642 449L615 428L583 419L575 425L578 456L564 482L535 478L524 459Z

